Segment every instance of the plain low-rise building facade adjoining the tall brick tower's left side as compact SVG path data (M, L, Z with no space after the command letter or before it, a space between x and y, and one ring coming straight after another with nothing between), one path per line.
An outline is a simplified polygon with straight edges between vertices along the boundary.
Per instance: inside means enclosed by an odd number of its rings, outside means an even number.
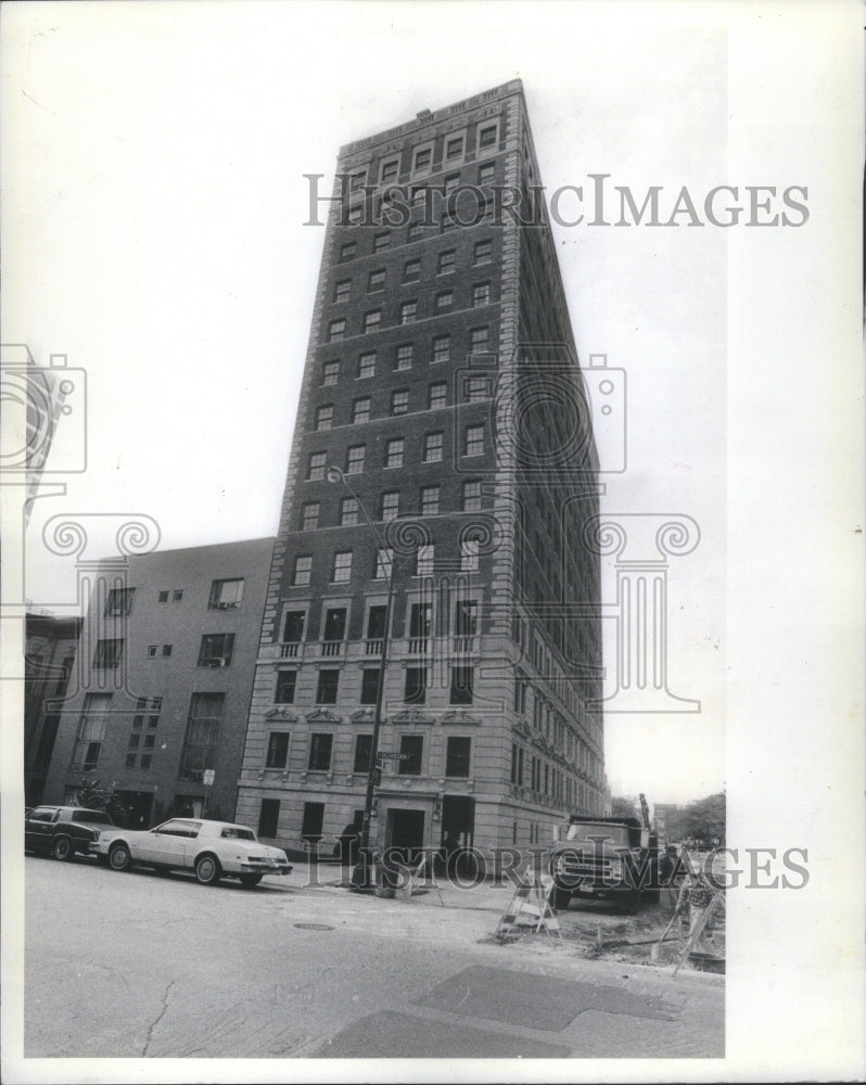
M233 818L272 548L95 566L43 802L75 803L98 780L136 827L181 812Z

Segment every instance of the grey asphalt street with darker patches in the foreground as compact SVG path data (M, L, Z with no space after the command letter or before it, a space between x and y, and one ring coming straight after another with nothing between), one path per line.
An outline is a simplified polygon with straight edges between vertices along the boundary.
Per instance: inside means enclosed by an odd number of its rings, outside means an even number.
M724 980L493 939L507 889L199 885L27 857L26 1058L717 1058ZM333 882L335 871L322 871Z

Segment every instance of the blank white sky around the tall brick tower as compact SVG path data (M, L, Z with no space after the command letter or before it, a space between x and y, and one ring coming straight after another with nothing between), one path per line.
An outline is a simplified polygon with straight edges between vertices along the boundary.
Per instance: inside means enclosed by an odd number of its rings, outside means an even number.
M519 76L565 220L568 187L588 204L590 175L638 206L660 187L663 219L684 187L700 207L714 186L755 183L728 161L736 31L651 7L612 22L593 4L466 4L459 35L424 3L12 12L3 339L40 363L66 355L87 387L87 469L63 474L58 451L65 496L37 501L28 527L33 604L76 604L74 564L42 538L60 513L88 514L91 554L111 552L103 514L153 518L163 548L276 532L324 232L305 225L305 175L329 191L342 143ZM606 724L614 794L651 802L726 784L729 238L687 220L555 226L581 357L607 355L627 382L627 470L606 476L602 511L700 531L667 567L668 686L700 712ZM603 469L615 449L600 442ZM609 691L615 590L608 559Z

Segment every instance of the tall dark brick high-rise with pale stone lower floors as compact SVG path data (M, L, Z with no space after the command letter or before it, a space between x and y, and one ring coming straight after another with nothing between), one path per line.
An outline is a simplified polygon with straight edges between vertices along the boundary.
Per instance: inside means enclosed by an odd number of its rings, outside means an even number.
M382 671L373 842L543 843L602 809L598 469L538 186L512 81L344 146L317 204L238 797L284 846L359 818Z

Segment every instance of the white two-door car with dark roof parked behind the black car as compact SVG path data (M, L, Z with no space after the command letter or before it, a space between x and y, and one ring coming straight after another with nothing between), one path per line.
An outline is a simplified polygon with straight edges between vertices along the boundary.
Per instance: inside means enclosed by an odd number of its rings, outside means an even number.
M132 866L192 870L203 885L225 877L252 886L265 875L288 875L292 869L285 852L260 844L252 829L201 818L171 818L144 831L106 830L90 850L113 870Z

